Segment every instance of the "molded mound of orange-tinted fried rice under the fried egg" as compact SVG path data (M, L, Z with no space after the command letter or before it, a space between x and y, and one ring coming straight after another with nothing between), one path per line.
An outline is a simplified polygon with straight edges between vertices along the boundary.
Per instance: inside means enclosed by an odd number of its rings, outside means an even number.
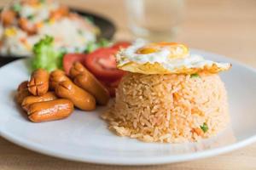
M227 94L218 74L128 73L102 118L120 136L182 143L223 130L230 122L228 112Z

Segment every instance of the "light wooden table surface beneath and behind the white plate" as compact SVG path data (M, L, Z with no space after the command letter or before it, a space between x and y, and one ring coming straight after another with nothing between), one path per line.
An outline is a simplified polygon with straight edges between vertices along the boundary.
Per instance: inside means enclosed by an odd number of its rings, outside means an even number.
M1 0L0 5L9 0ZM118 26L117 39L132 39L122 0L62 0L102 14ZM188 0L178 42L256 67L255 0ZM119 167L65 161L26 150L0 137L0 169L256 169L256 144L207 159L146 167Z

